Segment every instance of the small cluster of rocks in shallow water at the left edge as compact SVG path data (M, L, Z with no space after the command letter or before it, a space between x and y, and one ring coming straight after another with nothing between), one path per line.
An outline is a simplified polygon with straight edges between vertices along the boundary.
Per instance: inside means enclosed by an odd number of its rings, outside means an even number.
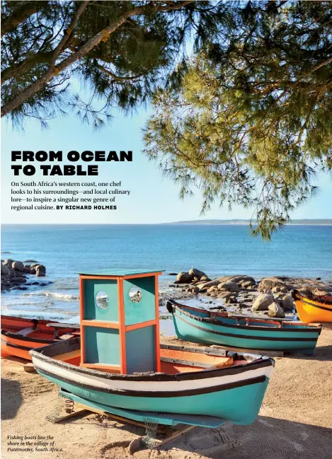
M24 262L11 260L1 260L1 291L9 290L28 290L30 285L46 286L52 284L46 282L28 282L29 275L35 277L45 277L46 267L35 260L25 260Z

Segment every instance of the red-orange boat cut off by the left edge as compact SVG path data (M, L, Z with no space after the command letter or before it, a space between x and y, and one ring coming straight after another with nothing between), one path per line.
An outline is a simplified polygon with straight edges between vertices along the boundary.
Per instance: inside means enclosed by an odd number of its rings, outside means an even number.
M29 351L75 337L79 325L1 315L1 357L31 360Z

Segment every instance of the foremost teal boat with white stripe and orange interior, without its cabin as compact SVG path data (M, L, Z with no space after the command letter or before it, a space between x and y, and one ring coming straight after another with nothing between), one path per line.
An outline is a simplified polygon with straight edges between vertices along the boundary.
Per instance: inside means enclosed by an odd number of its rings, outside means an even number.
M30 351L35 370L71 400L110 413L120 409L129 418L153 412L154 417L181 415L182 422L195 425L210 425L202 419L214 419L214 426L215 419L219 424L251 424L274 366L265 356L161 344L160 371L119 374L66 363L69 358L79 360L80 339ZM136 358L143 354L137 344Z

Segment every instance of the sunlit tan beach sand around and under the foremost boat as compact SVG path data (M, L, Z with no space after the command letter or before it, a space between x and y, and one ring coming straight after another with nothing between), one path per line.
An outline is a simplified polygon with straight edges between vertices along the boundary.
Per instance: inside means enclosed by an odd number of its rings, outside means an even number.
M159 450L137 451L134 455L127 446L144 435L142 427L98 414L60 424L47 422L45 417L57 404L57 387L38 374L25 373L20 359L1 359L1 364L3 459L332 457L332 331L327 328L319 337L314 356L275 359L260 415L251 426L196 427ZM18 435L53 436L55 448L63 451L8 452L8 436Z

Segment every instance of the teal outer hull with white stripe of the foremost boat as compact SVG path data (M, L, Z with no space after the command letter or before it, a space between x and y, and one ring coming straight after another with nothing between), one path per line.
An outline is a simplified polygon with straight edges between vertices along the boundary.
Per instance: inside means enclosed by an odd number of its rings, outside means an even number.
M212 416L235 424L251 424L256 419L273 369L273 360L266 358L247 366L181 373L181 377L164 373L115 376L59 364L40 352L32 354L41 376L84 400L110 407L110 412L120 407Z

